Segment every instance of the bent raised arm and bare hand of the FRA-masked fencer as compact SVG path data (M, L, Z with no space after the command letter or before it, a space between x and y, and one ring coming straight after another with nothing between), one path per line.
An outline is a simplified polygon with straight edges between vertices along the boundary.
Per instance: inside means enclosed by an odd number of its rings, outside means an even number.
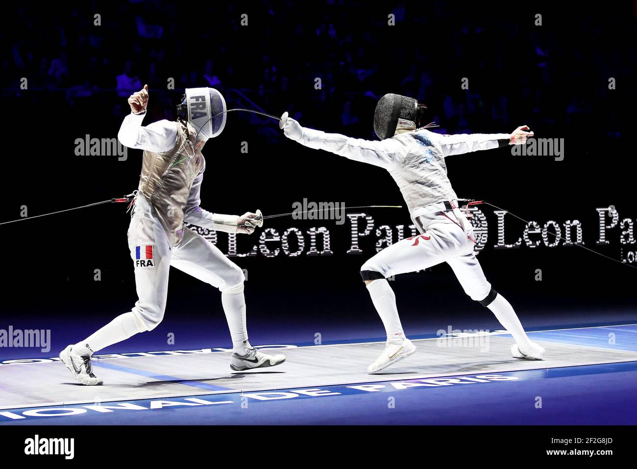
M168 151L177 140L177 124L171 121L157 121L147 127L141 126L148 107L148 85L128 98L131 114L124 117L117 138L129 148L161 153Z

